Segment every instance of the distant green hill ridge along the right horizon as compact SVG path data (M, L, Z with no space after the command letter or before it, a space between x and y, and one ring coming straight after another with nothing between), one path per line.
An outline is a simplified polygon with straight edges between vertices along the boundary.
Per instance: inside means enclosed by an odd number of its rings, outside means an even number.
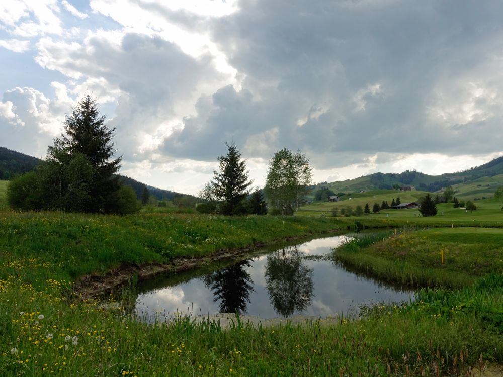
M362 190L392 189L393 185L398 184L399 186L414 186L417 190L435 192L449 185L470 182L481 177L492 177L498 174L503 174L503 156L483 165L456 173L429 175L415 170L407 170L403 173L374 173L344 181L323 182L313 186L312 189L316 191L324 187L336 193L359 192Z

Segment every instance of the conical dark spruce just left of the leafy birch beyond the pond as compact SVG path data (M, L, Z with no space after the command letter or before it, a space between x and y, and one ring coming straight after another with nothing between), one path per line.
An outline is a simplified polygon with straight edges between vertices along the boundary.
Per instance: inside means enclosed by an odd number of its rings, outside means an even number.
M237 215L246 212L244 199L249 194L249 172L246 162L241 160L241 153L234 141L229 145L227 155L218 157L220 171L213 171L213 192L220 203L220 212L224 215Z

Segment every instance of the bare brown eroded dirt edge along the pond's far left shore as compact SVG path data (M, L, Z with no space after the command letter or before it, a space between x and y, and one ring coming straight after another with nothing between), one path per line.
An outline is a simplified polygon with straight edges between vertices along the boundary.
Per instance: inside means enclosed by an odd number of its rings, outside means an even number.
M194 257L194 258L176 258L169 263L146 263L141 266L137 264L124 264L118 268L112 269L105 274L92 274L78 278L73 285L73 293L81 299L91 299L102 295L103 293L118 288L127 284L134 275L138 277L138 281L149 279L155 275L165 272L182 272L188 271L204 264L223 260L226 258L245 254L250 251L257 250L261 247L280 244L282 242L291 242L296 240L309 239L313 237L322 237L329 233L338 232L339 229L334 229L326 233L312 234L311 236L302 237L286 237L276 239L271 242L257 242L253 245L240 247L236 249L217 250L212 254Z

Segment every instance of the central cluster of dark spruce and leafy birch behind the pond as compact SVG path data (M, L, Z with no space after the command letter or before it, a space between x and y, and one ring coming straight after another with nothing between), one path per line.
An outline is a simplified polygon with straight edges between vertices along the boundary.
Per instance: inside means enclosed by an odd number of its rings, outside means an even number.
M300 151L292 153L287 148L276 152L269 162L264 193L257 187L251 192L252 180L241 153L232 143L225 144L227 154L218 157L219 169L213 172L212 181L208 182L199 193L205 203L197 210L202 213L219 212L224 215L245 213L267 213L268 207L275 215L293 215L293 208L308 193L312 180L309 160Z

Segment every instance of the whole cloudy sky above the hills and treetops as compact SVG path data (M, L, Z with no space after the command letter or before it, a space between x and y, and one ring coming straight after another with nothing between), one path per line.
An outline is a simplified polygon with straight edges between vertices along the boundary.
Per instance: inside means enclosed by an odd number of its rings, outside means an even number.
M120 172L196 194L225 143L254 185L282 147L314 182L503 155L503 2L0 3L0 146L44 158L89 91Z

